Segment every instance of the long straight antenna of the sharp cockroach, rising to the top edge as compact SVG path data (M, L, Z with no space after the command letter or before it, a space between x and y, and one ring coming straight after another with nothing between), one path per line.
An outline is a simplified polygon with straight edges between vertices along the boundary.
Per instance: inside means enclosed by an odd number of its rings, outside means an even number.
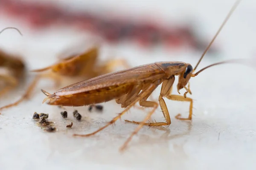
M198 67L199 63L201 62L201 60L203 59L204 55L207 53L207 51L209 50L210 46L212 45L212 43L214 42L214 40L216 39L216 37L218 36L218 34L221 32L221 29L224 27L224 25L227 23L227 20L230 18L231 14L233 13L233 11L235 11L236 7L239 5L239 3L241 2L241 0L237 0L236 3L234 3L234 5L232 6L230 12L227 14L227 17L225 18L225 20L223 21L223 23L221 24L221 27L218 29L217 33L215 34L215 36L213 37L212 41L209 43L209 45L207 46L207 48L205 49L204 53L202 54L201 58L199 59L198 63L195 65L195 68L193 70L193 72L196 70L196 68Z

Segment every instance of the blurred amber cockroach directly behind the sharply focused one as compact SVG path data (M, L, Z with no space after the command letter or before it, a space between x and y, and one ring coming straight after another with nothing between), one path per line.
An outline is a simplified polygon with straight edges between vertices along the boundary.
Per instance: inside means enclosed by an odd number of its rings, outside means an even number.
M61 78L70 77L73 79L80 77L83 79L90 79L102 74L110 73L113 71L115 66L124 65L125 67L128 67L128 65L125 64L124 59L110 59L103 64L99 64L99 61L97 60L98 56L99 47L95 45L95 47L90 48L81 54L73 54L66 58L60 59L60 61L54 65L48 66L46 68L32 70L32 72L40 73L45 71L49 72L38 74L25 94L19 100L1 107L0 110L16 106L23 100L28 99L37 82L43 77L54 79L56 82L55 84L58 86L58 83L61 82Z

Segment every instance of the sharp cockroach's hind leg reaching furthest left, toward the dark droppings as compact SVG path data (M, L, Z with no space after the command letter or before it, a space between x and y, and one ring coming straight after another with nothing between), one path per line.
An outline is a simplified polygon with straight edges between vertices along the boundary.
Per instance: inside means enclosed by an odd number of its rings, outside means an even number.
M143 99L143 97L145 97L148 93L151 93L151 91L154 91L154 89L157 87L157 85L155 84L151 84L148 88L146 88L145 90L143 90L139 96L134 99L134 101L131 103L131 105L128 105L127 108L125 108L124 111L122 111L122 113L119 113L118 116L114 117L110 122L108 122L107 125L99 128L98 130L94 131L93 133L89 133L86 135L79 135L79 134L73 134L73 136L81 136L81 137L87 137L87 136L92 136L96 133L98 133L99 131L102 131L103 129L105 129L106 127L108 127L109 125L112 125L113 123L115 123L118 119L121 118L122 115L124 115L131 107L133 107L138 101L140 101L140 99ZM140 127L141 128L141 127ZM129 139L130 140L130 139ZM126 142L127 143L127 142Z

